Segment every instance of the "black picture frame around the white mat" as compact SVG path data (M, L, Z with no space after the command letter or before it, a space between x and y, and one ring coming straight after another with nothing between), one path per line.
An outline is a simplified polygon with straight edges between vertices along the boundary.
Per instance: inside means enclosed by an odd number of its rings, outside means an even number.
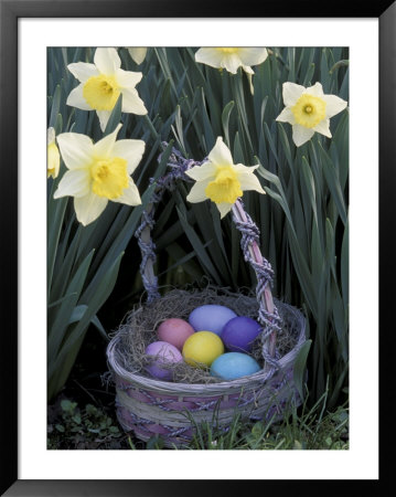
M193 8L192 8L193 7ZM193 12L192 12L193 11ZM18 479L18 20L20 18L377 18L379 20L379 325L381 458L378 480L20 480ZM1 495L7 496L201 496L288 491L299 495L386 495L393 457L385 457L395 413L386 381L393 347L390 311L396 244L392 205L396 188L396 2L277 0L0 0L0 223L1 223ZM370 64L370 61L367 61ZM370 231L370 226L367 226ZM362 247L364 250L364 247ZM375 299L375 296L371 296ZM381 327L379 327L381 329ZM368 358L367 358L368 360ZM392 390L390 390L392 393ZM362 413L364 416L364 413ZM389 431L389 433L392 433ZM392 447L389 447L392 448ZM309 484L309 485L308 485ZM228 489L226 489L226 487ZM303 488L303 490L302 490Z

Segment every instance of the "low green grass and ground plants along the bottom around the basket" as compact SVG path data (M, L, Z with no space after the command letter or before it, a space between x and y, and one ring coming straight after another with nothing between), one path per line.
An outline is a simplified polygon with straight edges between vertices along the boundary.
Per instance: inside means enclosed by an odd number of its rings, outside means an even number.
M182 450L347 450L349 411L339 406L335 411L327 408L324 393L312 408L306 403L296 410L290 408L281 422L242 422L235 412L229 429L225 432L216 427L214 413L211 422L194 423L196 434ZM161 435L152 436L147 443L122 434L101 408L86 404L78 408L77 402L64 399L47 426L47 447L101 448L101 450L147 450L164 448ZM173 448L178 448L173 446Z

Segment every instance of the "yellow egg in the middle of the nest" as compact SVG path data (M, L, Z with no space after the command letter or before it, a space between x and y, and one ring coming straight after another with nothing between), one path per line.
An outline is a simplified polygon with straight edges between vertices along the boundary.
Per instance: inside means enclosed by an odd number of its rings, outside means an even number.
M196 331L183 346L183 358L196 368L211 367L212 362L224 352L224 345L218 335L212 331Z

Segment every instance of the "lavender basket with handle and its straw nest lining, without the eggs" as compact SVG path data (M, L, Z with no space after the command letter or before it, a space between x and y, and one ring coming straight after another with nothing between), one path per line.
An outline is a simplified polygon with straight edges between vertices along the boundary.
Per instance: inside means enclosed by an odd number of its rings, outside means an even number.
M302 402L293 367L306 342L306 319L297 308L272 298L272 269L260 253L259 231L240 199L233 205L232 215L242 234L245 261L257 277L255 294L243 295L216 287L191 292L172 289L163 296L159 293L151 240L156 207L164 191L174 189L178 180L191 181L185 171L201 163L186 160L172 149L168 159L170 171L156 181L136 232L142 254L140 273L147 302L131 310L107 348L120 425L141 441L160 435L168 447L189 444L201 423L226 432L236 414L240 420L278 420L291 404L298 406ZM256 359L261 366L258 372L231 381L208 376L192 376L185 381L182 371L173 381L163 381L150 377L141 363L137 364L136 358L145 355L147 342L157 339L156 329L161 321L188 319L194 308L206 304L226 306L236 315L249 316L261 325L255 346Z

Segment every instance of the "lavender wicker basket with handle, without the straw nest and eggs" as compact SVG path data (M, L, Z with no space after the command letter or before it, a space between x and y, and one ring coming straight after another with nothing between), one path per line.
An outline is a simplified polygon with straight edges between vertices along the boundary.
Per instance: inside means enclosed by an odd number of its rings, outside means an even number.
M143 212L142 223L136 233L142 253L140 272L148 300L133 313L141 315L150 311L156 300L161 298L153 272L156 254L150 236L156 204L167 189L174 188L176 180L190 181L185 170L196 163L183 159L173 149L168 159L171 172L156 182L151 203ZM239 199L233 207L233 221L242 232L240 245L245 260L255 269L258 281L251 305L256 305L255 318L263 325L264 368L237 380L207 384L156 380L128 370L122 357L125 329L119 330L107 348L108 364L116 384L117 417L126 432L133 432L142 441L161 435L165 446L180 447L192 440L202 422L225 432L236 412L242 420L280 419L290 403L301 403L295 385L293 364L306 341L306 319L295 307L272 299L271 268L258 248L257 226ZM238 298L237 294L231 294L231 308L233 296ZM286 352L281 351L277 349L277 334L290 335L292 346Z

